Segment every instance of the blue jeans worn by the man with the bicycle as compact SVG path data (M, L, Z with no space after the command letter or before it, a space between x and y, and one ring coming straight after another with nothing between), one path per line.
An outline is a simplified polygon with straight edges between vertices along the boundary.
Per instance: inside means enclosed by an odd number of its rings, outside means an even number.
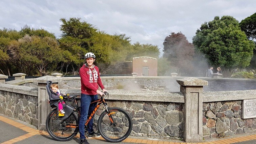
M88 113L91 114L96 107L97 103L90 104L93 100L97 100L98 95L88 95L88 94L81 94L81 116L79 120L79 133L80 133L80 139L85 139L84 136L84 124L87 120ZM94 117L94 116L93 116ZM93 117L89 121L87 125L87 131L88 133L92 133L93 130Z

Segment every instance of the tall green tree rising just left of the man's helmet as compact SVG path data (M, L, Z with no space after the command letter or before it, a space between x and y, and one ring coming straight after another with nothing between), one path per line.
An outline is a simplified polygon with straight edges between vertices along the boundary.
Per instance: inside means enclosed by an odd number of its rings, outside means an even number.
M66 51L66 54L70 52L73 56L65 59L65 61L62 60L61 69L66 67L66 70L72 69L73 74L76 74L84 61L84 54L89 51L89 47L92 45L91 37L97 33L97 29L93 25L81 21L81 18L70 18L69 20L62 18L60 21L62 22L60 26L62 35L58 39L59 47Z

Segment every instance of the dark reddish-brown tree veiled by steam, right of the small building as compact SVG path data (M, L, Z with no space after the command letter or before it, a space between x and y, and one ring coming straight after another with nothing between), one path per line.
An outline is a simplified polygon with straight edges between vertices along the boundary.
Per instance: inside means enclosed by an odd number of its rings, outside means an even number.
M172 63L176 73L190 73L193 69L192 60L194 46L188 42L181 32L165 37L163 42L163 57Z

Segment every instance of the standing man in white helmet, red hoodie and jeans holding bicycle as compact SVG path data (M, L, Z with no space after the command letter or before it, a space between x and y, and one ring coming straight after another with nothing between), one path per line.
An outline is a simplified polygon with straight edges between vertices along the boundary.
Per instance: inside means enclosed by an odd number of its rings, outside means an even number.
M105 88L100 79L99 68L93 63L95 61L94 53L86 53L85 64L80 68L79 74L81 77L81 117L79 120L79 133L80 133L80 144L89 144L84 136L84 124L87 120L88 113L92 113L97 103L91 104L93 100L98 99L98 95L104 95ZM99 91L98 88L102 89L103 92ZM93 117L87 125L88 138L100 137L99 134L93 130Z

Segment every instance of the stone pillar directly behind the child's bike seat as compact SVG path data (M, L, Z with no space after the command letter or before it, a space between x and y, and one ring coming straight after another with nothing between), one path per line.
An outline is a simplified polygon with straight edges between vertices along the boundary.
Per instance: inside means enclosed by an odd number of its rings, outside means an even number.
M38 83L38 126L37 128L40 130L46 130L45 122L48 114L51 112L51 107L48 103L49 95L46 90L46 81L52 81L52 83L58 83L61 79L53 77L53 76L44 76L39 77L33 80L33 83Z

